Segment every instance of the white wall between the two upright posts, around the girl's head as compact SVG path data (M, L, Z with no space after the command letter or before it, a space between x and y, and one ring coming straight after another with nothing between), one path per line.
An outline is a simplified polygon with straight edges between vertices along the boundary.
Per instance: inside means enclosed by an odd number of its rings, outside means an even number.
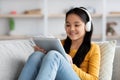
M98 0L48 0L48 13L49 14L60 14L64 13L65 10L69 10L71 7L94 7L96 13L102 13L103 7L102 1ZM94 24L94 34L101 34L102 28L102 18L95 18L93 21ZM49 18L49 33L53 33L55 35L65 33L64 31L64 17L63 18Z

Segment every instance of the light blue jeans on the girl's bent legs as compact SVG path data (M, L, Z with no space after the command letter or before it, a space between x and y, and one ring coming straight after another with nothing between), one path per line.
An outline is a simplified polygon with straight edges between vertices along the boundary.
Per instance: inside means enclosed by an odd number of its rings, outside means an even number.
M57 51L36 51L26 62L18 80L80 80L71 64Z

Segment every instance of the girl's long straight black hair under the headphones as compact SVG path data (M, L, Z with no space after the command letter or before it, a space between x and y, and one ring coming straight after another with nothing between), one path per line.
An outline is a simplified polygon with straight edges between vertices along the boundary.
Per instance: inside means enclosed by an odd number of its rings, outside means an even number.
M82 7L82 8L84 8L84 7ZM89 21L89 16L82 8L76 7L76 8L70 9L66 13L66 19L67 19L68 15L76 14L86 24ZM84 9L86 9L86 8L84 8ZM92 32L93 32L93 24L91 22L91 30L86 31L83 42L82 42L81 46L79 47L79 49L77 50L76 55L73 57L73 63L76 64L78 67L80 67L80 64L83 62L86 54L88 53L88 51L91 48ZM64 49L65 49L66 53L70 52L70 46L71 46L71 39L67 36L67 38L65 39L65 42L64 42Z

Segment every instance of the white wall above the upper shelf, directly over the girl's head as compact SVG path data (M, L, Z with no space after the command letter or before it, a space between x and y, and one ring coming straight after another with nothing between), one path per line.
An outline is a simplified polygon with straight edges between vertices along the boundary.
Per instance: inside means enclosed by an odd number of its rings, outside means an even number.
M49 13L63 13L64 9L69 9L71 7L94 7L97 12L102 13L102 1L98 0L48 0L48 11Z

